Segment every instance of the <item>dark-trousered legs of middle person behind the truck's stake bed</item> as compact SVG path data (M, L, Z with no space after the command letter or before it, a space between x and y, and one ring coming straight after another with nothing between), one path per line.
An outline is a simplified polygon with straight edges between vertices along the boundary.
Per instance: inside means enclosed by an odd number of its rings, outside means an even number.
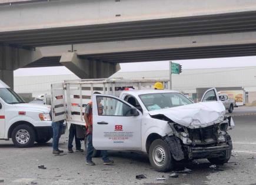
M75 137L75 152L84 152L83 149L81 149L81 141L77 138L77 128L74 124L71 124L69 128L69 135L68 135L68 153L74 153L72 147L72 143Z

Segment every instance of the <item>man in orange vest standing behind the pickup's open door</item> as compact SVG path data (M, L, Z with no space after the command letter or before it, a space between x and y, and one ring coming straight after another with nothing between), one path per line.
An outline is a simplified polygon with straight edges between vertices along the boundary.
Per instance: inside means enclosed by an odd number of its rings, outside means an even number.
M94 94L100 94L100 93L95 92ZM99 102L97 100L97 105L98 105L98 107L100 107L98 112L102 113L102 108L101 108L100 103L101 103L100 100L99 100ZM94 152L94 146L92 146L92 118L93 118L92 117L92 102L89 102L87 104L87 107L85 107L84 120L85 120L85 124L87 127L87 133L85 136L85 137L87 137L87 158L86 158L87 162L86 162L86 164L90 165L90 166L95 165L95 163L92 162L92 153ZM107 150L101 150L101 155L102 155L102 160L103 160L104 165L114 163L114 161L108 159Z

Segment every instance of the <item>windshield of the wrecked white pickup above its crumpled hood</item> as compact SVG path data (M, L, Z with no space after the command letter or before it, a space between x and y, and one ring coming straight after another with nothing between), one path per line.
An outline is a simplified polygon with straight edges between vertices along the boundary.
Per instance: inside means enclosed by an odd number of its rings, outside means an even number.
M151 110L167 109L182 105L189 105L193 102L181 93L152 93L139 95L145 107Z

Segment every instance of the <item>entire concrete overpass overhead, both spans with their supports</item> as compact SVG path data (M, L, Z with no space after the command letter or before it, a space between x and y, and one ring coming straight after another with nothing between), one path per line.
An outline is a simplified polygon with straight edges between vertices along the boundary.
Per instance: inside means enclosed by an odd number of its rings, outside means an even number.
M59 65L102 78L121 62L252 56L255 18L250 0L6 0L0 78Z

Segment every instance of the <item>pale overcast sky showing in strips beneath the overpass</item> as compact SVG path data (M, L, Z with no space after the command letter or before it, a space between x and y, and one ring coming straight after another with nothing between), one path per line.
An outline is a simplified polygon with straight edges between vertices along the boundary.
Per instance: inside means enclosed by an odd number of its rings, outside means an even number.
M256 56L235 58L172 60L182 65L182 69L198 68L232 68L242 66L256 66ZM168 70L169 61L121 63L121 72L145 71L145 70ZM49 68L22 68L14 71L14 76L42 76L42 75L69 75L70 70L61 67Z

